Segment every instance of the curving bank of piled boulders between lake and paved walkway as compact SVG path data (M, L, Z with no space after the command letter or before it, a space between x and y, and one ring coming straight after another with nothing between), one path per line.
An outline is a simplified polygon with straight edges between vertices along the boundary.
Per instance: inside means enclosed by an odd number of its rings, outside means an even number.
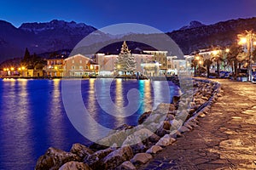
M221 95L218 82L195 79L193 88L192 99L175 97L172 104L160 104L143 113L137 127L122 125L89 147L73 144L68 152L49 148L38 158L35 169L137 169L198 126L198 117L205 116ZM189 108L180 109L183 105ZM185 122L182 116L186 116Z

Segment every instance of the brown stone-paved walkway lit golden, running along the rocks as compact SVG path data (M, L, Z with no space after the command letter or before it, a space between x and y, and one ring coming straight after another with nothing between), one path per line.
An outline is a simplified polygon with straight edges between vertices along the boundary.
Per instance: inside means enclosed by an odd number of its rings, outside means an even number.
M140 169L256 169L256 84L221 83L224 95L199 126Z

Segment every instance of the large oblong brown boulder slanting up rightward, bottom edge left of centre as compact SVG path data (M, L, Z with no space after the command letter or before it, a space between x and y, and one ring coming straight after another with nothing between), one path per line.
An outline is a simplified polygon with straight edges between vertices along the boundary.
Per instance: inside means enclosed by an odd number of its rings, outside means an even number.
M102 165L105 169L113 169L124 161L129 161L132 156L131 146L124 146L108 154L108 156L103 159Z

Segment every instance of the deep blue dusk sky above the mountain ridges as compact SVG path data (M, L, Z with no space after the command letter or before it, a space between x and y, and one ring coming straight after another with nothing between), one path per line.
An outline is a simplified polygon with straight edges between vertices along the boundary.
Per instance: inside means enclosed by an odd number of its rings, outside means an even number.
M96 28L132 22L172 31L191 20L213 24L253 16L256 0L0 0L0 20L14 26L57 19Z

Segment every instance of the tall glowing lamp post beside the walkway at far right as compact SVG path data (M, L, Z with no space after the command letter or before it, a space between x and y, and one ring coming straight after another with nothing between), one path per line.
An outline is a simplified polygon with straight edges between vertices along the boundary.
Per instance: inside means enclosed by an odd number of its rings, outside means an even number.
M244 48L247 49L247 55L249 56L249 65L247 66L247 73L248 73L248 82L252 82L252 59L253 59L253 45L255 45L256 35L253 31L246 31L246 34L238 34L238 38L240 41L238 42L239 45L244 45Z

